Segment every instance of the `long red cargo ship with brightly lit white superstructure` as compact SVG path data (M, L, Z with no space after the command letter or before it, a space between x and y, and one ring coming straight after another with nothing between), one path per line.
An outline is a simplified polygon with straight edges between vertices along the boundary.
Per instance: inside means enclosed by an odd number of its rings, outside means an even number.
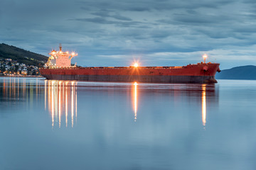
M75 81L111 81L142 83L217 83L216 72L220 72L218 63L204 62L188 64L182 67L140 67L137 63L129 67L77 67L71 65L71 59L78 54L60 50L49 53L44 68L39 69L46 79Z

